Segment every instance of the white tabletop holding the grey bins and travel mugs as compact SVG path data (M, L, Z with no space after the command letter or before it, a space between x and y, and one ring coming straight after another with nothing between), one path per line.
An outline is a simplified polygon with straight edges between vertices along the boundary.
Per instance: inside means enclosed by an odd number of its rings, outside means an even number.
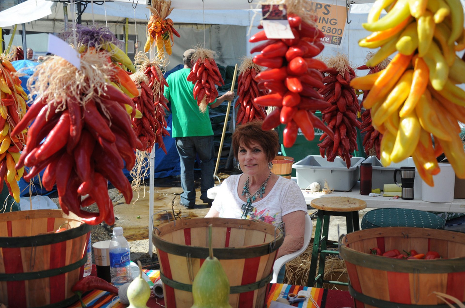
M368 208L384 208L384 207L397 207L406 209L415 209L429 212L452 212L452 213L465 213L465 199L454 199L448 203L436 203L423 201L421 198L413 200L394 199L392 197L370 197L360 194L360 182L357 182L350 192L332 192L325 194L322 192L312 192L310 190L302 189L307 205L315 198L320 197L352 197L364 200Z

